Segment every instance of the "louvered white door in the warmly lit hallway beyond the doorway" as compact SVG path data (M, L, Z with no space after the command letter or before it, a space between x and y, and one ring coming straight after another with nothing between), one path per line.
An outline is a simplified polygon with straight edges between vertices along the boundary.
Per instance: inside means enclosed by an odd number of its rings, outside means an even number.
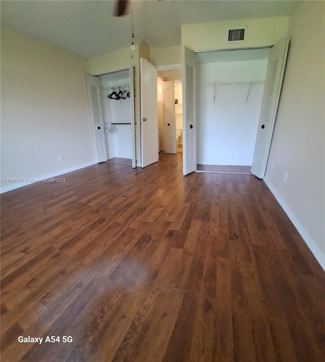
M164 147L166 154L176 154L176 119L174 82L163 83Z

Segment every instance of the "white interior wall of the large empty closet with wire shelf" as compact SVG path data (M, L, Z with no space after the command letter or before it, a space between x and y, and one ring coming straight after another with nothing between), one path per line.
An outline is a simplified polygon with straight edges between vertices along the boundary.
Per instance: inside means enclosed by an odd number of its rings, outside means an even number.
M199 65L199 164L252 164L267 63L259 60ZM239 82L245 83L231 84Z

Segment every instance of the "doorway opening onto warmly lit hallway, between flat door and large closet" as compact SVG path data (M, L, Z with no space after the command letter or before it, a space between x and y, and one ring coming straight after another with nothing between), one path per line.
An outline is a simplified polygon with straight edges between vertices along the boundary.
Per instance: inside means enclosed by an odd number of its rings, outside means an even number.
M157 112L159 152L183 152L181 66L157 67Z

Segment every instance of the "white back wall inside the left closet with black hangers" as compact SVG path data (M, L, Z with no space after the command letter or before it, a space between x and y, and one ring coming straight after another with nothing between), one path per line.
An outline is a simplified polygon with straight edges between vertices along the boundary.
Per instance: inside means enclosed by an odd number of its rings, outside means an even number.
M103 84L103 108L105 123L131 123L131 99L110 99L107 96L112 92L112 87L121 87L129 92L129 79L119 79L114 81L104 81ZM124 87L125 86L125 87ZM118 88L114 89L119 92ZM108 159L119 157L132 159L132 128L131 125L115 125L112 132L106 133L106 145Z

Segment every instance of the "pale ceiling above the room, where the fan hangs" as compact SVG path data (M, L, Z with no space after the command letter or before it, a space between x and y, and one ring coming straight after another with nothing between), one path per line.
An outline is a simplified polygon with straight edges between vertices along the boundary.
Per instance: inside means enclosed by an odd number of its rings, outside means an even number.
M131 44L131 15L112 16L112 0L4 1L1 24L69 49L86 58ZM135 43L181 44L181 24L289 15L294 1L137 0Z

